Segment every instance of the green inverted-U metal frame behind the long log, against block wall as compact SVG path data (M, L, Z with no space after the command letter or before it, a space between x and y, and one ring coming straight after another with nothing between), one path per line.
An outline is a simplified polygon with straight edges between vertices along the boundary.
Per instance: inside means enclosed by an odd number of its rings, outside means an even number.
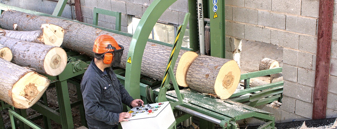
M104 10L100 8L94 8L93 12L93 25L98 25L98 14L104 14L104 15L109 15L109 16L114 16L116 17L116 24L115 24L115 30L121 31L121 23L122 23L122 13L121 12L114 12L110 10Z

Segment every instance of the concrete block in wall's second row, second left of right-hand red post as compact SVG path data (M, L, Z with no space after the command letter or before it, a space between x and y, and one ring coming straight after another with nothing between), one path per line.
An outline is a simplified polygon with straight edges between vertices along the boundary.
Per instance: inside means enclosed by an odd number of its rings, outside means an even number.
M258 25L285 29L285 15L267 11L258 11Z

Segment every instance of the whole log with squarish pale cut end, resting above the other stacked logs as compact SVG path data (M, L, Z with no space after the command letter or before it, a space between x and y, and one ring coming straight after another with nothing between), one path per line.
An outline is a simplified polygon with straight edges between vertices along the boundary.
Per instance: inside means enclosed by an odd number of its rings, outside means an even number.
M23 41L60 47L63 42L64 29L53 24L42 24L41 28L35 31L0 29L0 35Z

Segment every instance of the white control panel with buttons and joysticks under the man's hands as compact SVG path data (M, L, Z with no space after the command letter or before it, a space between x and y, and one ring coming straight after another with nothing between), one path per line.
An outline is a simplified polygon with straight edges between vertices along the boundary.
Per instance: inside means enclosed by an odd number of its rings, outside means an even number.
M128 113L132 117L128 118L129 121L121 122L123 129L167 129L175 123L169 102L144 104L133 107ZM149 122L151 124L145 124Z

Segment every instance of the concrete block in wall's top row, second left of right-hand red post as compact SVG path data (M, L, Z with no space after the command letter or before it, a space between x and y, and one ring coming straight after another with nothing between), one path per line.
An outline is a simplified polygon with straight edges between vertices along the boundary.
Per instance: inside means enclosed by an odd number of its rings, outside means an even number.
M301 0L273 0L272 11L301 15Z

